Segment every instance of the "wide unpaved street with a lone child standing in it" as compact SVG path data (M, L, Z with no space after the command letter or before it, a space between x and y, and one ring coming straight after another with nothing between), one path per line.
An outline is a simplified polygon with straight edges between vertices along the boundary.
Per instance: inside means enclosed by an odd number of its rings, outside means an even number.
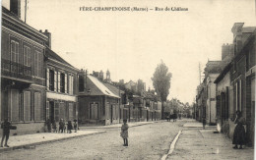
M0 159L160 159L184 121L158 122L129 129L129 146L122 146L120 129L38 145L0 154ZM96 130L96 129L94 129ZM102 130L102 129L100 129ZM12 138L12 137L11 137Z

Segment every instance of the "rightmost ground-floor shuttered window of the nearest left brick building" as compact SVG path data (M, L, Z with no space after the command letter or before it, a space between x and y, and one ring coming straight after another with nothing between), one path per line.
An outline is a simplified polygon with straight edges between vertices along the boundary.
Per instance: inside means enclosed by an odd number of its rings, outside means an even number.
M35 92L34 93L34 121L41 121L41 114L42 114L42 104L41 104L41 93Z

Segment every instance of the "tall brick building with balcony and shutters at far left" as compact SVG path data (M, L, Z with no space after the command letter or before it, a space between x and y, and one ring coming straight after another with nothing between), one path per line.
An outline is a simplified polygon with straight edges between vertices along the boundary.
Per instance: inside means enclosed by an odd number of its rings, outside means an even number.
M48 37L21 21L21 3L2 7L1 121L9 119L15 134L39 133L45 121L43 55Z

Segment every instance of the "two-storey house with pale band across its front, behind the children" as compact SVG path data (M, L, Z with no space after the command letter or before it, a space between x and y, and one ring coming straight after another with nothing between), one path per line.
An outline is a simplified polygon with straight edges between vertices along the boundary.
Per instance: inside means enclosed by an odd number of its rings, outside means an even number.
M47 30L45 31L47 32ZM65 122L78 119L78 73L48 46L45 51L46 65L46 119ZM57 123L58 124L58 123Z

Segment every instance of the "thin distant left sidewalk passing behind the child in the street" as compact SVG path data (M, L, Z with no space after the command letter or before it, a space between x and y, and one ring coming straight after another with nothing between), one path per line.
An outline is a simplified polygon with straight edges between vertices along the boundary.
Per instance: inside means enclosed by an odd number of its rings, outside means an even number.
M152 121L152 122L131 122L127 123L130 128L136 127L136 126L143 126L143 125L149 125L156 123L157 121ZM108 125L108 126L96 126L96 127L82 127L80 126L80 129L115 129L115 128L121 128L122 124L114 124L114 125Z

